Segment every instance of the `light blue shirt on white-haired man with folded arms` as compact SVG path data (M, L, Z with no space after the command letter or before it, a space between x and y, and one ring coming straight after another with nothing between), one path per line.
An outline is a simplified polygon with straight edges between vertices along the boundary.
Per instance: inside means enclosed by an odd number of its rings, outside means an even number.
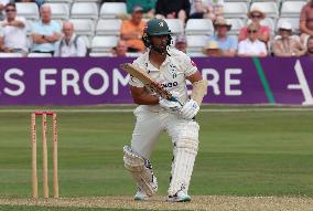
M61 33L61 27L55 21L51 21L50 24L37 21L32 25L32 34L53 35L54 32ZM32 51L51 52L54 50L54 43L33 43L32 45Z

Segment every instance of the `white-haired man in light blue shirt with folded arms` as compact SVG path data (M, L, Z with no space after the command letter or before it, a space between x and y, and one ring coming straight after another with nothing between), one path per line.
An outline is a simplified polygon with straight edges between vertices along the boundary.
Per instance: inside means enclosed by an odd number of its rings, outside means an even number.
M33 24L31 38L32 52L54 54L55 43L61 39L60 25L51 20L51 8L43 4L40 9L41 20Z

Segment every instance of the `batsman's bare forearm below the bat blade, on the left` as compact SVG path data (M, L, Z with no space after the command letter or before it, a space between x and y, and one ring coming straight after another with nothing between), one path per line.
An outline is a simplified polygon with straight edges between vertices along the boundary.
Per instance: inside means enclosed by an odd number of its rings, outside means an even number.
M150 95L145 87L137 87L130 85L130 93L133 102L139 105L156 105L159 104L159 97Z

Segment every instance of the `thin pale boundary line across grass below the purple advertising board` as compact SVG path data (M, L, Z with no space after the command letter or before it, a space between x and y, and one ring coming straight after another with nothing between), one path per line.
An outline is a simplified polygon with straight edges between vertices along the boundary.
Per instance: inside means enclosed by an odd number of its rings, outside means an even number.
M33 113L37 109L1 109L0 113ZM48 109L50 110L50 109ZM56 108L51 109L52 112L56 113L132 113L133 109L129 108L86 108L86 109L77 109L77 108ZM301 108L301 107L291 107L291 108L203 108L201 109L202 113L245 113L245 112L313 112L313 108Z

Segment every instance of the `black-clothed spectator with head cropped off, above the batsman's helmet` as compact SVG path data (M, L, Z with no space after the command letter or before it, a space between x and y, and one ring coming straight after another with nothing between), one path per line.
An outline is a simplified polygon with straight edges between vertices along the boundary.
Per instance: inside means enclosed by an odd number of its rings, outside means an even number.
M190 0L158 0L155 3L156 18L181 19L185 22L190 11Z

